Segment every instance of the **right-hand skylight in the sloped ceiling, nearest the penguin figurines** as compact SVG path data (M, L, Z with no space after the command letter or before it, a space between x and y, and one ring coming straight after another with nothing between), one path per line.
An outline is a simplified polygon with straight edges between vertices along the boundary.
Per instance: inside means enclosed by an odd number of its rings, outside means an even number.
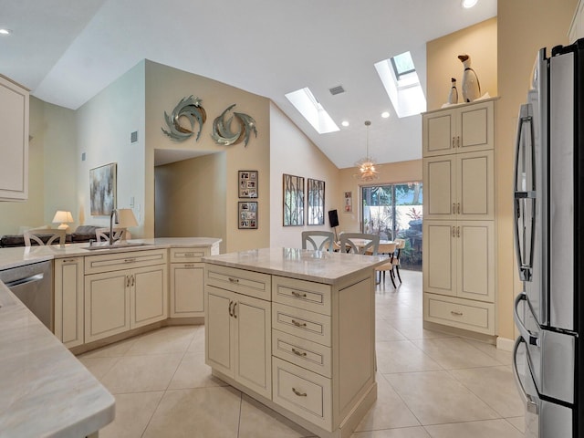
M399 118L426 110L426 98L410 52L383 59L375 63L375 68Z

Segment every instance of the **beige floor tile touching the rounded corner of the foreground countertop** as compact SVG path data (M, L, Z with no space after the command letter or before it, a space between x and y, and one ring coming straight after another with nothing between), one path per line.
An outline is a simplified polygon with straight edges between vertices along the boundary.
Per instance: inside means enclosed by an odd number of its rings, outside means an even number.
M163 391L116 395L116 419L99 431L99 438L140 438Z

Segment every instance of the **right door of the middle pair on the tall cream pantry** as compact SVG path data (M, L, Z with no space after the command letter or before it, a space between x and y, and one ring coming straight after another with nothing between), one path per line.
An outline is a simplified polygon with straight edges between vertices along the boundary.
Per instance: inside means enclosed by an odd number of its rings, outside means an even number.
M493 151L456 155L456 219L494 218L494 173Z

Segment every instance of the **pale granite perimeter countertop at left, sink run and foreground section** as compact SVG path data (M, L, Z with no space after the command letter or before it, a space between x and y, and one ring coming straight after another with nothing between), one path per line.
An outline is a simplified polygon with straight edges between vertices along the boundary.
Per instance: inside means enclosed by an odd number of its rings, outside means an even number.
M0 269L75 255L215 245L221 239L135 239L148 245L83 249L88 244L0 249ZM115 400L0 281L0 438L83 437L113 421Z

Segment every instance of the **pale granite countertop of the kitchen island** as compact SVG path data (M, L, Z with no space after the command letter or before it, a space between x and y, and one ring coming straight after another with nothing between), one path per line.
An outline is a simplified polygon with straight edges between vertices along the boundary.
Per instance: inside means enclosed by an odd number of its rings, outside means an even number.
M262 248L208 255L203 261L334 285L346 276L387 261L387 255L328 253L297 248Z

